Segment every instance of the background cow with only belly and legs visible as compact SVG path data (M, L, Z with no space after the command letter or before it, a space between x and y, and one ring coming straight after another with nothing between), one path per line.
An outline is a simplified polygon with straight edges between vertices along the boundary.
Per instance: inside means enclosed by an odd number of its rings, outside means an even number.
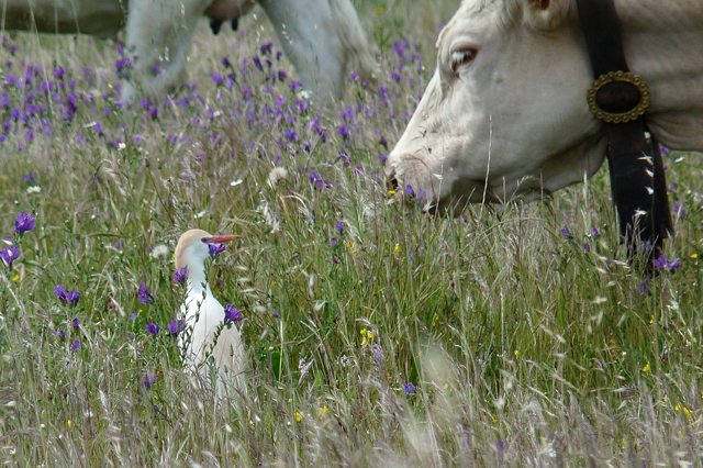
M0 0L2 30L85 33L115 37L126 26L131 80L123 101L142 91L157 99L185 81L196 25L208 15L213 30L254 7L255 0ZM347 66L375 80L376 64L349 0L258 0L303 86L338 96Z

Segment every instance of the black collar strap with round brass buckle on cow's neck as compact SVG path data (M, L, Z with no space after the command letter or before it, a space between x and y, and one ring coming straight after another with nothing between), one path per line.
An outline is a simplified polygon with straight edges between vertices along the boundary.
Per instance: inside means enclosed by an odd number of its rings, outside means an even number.
M610 71L629 71L613 0L577 0L577 4L594 78ZM632 109L633 100L636 103L639 99L639 91L634 88L631 83L614 81L599 90L596 100L601 108L624 112ZM604 125L621 236L631 255L636 249L637 237L651 242L657 247L652 252L659 250L663 238L673 233L659 145L654 137L647 140L644 115Z

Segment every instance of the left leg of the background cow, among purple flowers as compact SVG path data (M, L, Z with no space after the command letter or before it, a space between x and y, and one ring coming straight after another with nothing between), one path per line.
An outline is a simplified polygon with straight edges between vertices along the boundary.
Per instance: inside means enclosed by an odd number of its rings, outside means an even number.
M208 0L132 0L126 46L133 60L131 80L121 100L133 102L138 88L145 97L161 100L186 80L186 62L198 20Z

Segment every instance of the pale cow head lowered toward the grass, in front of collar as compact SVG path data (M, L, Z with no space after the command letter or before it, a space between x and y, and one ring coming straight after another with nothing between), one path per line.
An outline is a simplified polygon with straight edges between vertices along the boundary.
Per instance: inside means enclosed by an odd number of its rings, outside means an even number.
M571 0L465 0L437 68L387 163L442 211L539 198L601 166L591 68Z

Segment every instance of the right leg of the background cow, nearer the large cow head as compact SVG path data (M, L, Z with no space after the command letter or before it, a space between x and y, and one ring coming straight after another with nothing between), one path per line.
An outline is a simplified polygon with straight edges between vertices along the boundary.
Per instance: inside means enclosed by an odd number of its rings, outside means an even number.
M376 64L349 0L259 0L303 86L339 96L347 64L375 80Z

